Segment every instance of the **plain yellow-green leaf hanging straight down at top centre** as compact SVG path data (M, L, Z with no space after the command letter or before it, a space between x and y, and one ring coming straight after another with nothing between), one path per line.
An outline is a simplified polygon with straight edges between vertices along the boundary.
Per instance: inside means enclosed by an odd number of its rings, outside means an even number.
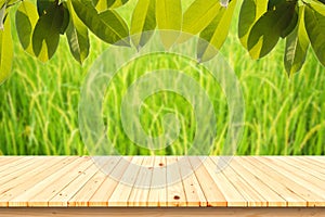
M158 28L162 30L160 31L161 41L165 48L169 49L177 41L182 27L181 0L157 0L156 21Z

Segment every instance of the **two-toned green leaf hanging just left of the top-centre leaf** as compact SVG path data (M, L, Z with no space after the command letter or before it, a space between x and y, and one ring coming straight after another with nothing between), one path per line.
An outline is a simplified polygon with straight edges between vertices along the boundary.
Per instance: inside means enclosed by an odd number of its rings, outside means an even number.
M130 35L136 48L143 47L150 39L151 34L143 31L156 28L156 0L138 1L132 14Z

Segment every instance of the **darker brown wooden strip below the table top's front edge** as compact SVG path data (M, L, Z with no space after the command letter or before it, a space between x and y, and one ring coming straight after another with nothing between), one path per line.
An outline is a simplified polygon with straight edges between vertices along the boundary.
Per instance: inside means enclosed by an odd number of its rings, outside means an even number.
M135 217L135 216L205 216L205 217L323 217L325 208L0 208L1 217Z

